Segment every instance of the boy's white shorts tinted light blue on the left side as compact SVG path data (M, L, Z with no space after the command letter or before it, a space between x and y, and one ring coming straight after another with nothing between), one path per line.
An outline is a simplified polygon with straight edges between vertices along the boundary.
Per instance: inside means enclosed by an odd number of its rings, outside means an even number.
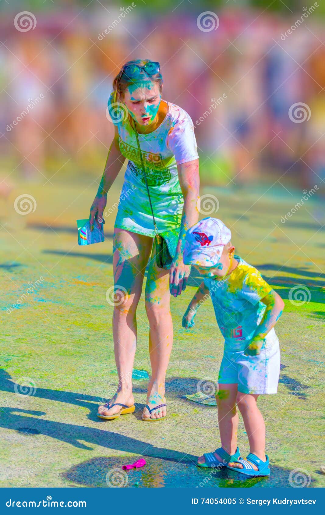
M277 393L280 375L280 347L274 329L257 356L246 356L244 350L225 348L218 383L238 385L242 393Z

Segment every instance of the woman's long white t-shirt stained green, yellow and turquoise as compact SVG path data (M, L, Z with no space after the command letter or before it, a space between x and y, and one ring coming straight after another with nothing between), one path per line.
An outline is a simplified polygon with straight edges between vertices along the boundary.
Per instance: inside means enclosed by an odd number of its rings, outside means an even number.
M109 112L114 108L111 102L112 95L108 103ZM177 165L199 157L191 117L179 106L170 102L166 104L168 111L161 125L153 132L139 134L153 213L160 233L180 227L184 200ZM154 236L140 153L127 111L122 110L119 116L112 116L112 121L118 129L119 148L129 160L115 227Z

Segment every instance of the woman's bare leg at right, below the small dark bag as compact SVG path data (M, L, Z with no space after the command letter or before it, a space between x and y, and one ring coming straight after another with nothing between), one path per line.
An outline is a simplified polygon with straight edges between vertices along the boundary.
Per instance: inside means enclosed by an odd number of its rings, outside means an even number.
M146 404L150 408L165 404L165 377L173 347L173 321L170 314L169 271L158 268L153 252L146 282L147 317L149 320L149 352L151 379ZM166 407L153 410L151 416L144 408L145 418L162 418Z

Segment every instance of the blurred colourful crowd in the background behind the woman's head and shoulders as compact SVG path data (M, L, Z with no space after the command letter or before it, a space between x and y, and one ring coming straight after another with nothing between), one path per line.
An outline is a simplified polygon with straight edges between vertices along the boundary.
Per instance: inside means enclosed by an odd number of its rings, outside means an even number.
M159 61L163 98L192 117L203 184L323 189L323 0L40 0L0 9L0 191L20 180L100 177L112 80L133 58ZM23 11L32 13L28 30Z

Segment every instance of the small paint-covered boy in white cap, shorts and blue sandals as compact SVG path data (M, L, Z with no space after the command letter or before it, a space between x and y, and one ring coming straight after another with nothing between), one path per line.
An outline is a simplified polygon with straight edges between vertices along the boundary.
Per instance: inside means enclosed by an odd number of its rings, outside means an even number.
M199 467L228 467L250 476L270 474L265 455L265 425L256 400L277 393L280 373L279 340L273 327L284 302L256 268L234 255L231 232L217 218L203 218L185 236L183 261L204 277L183 317L194 325L197 308L211 296L215 316L225 338L218 392L221 447L198 458ZM240 410L250 453L241 458L237 447Z

